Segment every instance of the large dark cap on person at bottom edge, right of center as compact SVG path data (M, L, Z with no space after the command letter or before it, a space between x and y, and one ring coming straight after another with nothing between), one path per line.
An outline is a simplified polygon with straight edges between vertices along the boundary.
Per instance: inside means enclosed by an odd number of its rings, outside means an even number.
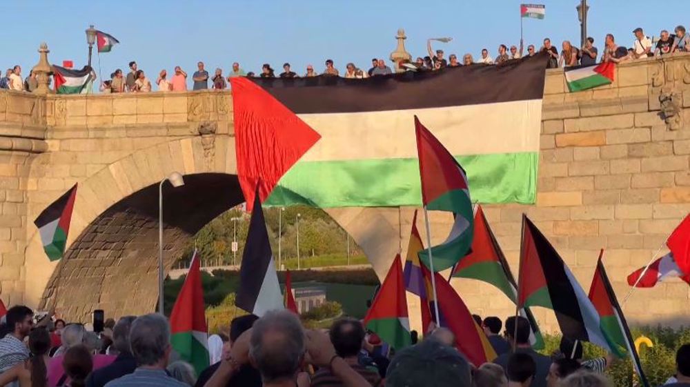
M386 387L471 387L470 366L460 353L437 340L401 350L386 374Z

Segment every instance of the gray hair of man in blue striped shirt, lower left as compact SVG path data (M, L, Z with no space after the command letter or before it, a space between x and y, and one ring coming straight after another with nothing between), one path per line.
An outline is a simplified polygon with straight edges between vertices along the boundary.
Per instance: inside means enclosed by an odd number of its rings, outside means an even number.
M132 355L140 366L152 366L166 356L170 347L170 324L158 313L137 317L130 329Z

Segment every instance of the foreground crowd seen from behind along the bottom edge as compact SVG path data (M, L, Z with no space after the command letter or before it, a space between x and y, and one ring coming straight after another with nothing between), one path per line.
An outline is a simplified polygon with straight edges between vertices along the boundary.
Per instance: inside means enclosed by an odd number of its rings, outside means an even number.
M342 317L331 328L308 330L288 310L230 321L229 336L209 338L211 365L199 375L179 360L163 315L106 321L101 335L81 324L34 322L32 310L8 310L0 339L0 386L19 387L611 387L604 370L611 359L582 359L582 344L562 339L551 356L531 348L523 317L480 319L498 357L479 367L456 349L446 328L397 353L358 319ZM48 320L46 324L44 321ZM217 344L212 344L217 341ZM668 387L690 386L690 344L676 355Z

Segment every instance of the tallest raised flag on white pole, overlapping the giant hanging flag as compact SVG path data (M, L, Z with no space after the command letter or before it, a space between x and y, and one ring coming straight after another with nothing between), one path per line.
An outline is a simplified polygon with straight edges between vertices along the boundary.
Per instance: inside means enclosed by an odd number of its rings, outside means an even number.
M417 116L415 132L420 157L422 204L427 210L450 211L455 216L446 241L432 247L431 251L420 252L424 265L438 272L455 265L472 244L472 201L465 170L440 141L424 128Z

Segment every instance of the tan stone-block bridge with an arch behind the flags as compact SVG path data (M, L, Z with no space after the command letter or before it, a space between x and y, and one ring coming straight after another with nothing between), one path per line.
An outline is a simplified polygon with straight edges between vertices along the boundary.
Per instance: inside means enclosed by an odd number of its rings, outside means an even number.
M549 70L542 115L537 204L487 206L489 221L516 270L526 212L585 288L598 249L607 248L623 297L627 274L646 264L690 211L690 56L626 63L611 86L573 94L562 71ZM184 174L186 184L164 194L166 269L199 228L244 201L230 91L2 90L0 160L0 297L10 305L56 305L73 320L90 319L95 308L115 317L155 309L157 184L170 172ZM68 251L50 262L32 222L77 182ZM406 249L413 208L328 212L380 277ZM435 215L435 230L449 228L449 220ZM490 286L469 279L453 285L480 315L514 311ZM689 297L686 284L669 281L636 291L625 310L638 324L687 324ZM410 297L412 315L416 303ZM551 315L536 311L546 329L554 327Z

